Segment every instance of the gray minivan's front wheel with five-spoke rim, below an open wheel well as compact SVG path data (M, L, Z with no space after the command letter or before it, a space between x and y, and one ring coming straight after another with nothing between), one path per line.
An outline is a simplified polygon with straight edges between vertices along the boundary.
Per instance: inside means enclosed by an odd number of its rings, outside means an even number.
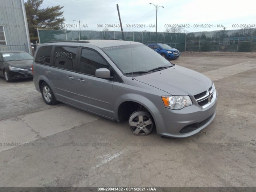
M153 118L145 111L135 111L129 117L131 131L136 135L148 135L153 129Z

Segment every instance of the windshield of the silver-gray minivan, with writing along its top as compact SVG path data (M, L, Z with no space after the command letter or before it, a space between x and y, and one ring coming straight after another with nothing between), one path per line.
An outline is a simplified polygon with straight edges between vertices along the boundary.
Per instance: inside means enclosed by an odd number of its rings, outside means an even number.
M160 54L144 44L127 44L101 48L123 74L146 74L150 70L173 66Z

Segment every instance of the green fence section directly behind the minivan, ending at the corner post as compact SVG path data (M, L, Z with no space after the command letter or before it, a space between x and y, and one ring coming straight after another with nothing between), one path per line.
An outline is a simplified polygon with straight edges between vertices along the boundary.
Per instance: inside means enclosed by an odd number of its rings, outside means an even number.
M143 44L164 43L180 51L185 50L185 33L161 32L123 32L124 40ZM74 30L38 30L40 44L50 41L123 39L120 31L74 31Z

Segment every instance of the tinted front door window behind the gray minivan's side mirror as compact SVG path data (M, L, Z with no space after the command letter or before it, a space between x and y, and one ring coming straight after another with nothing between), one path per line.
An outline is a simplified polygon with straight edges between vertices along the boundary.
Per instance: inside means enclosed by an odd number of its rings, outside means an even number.
M82 49L80 72L95 75L96 69L99 68L109 68L109 66L97 52Z

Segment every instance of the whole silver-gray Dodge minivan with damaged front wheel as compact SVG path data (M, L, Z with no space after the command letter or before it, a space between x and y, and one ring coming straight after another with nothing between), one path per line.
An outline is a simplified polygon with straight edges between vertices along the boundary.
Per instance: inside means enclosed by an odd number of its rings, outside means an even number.
M191 136L216 114L217 91L209 78L138 42L50 42L36 50L32 68L46 104L128 120L136 135L155 127L160 136Z

